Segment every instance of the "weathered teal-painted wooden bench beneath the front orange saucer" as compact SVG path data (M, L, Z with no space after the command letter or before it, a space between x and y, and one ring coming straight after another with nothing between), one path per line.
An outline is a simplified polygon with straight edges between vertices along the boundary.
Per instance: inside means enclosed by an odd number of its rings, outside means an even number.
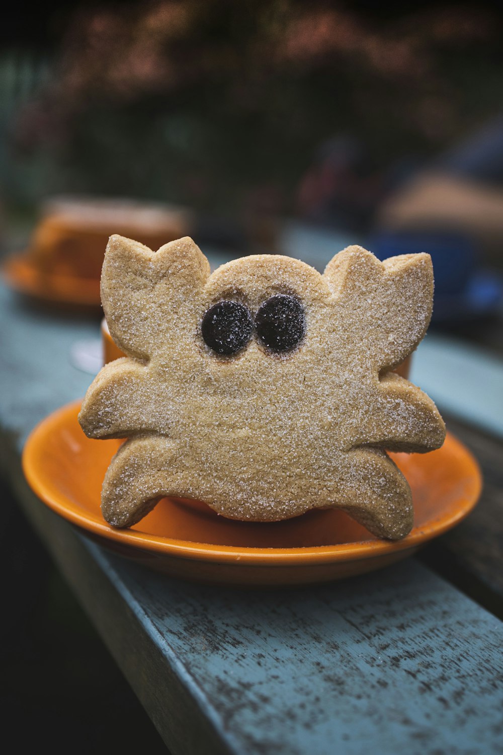
M488 487L421 559L299 590L183 583L90 543L20 470L32 427L89 384L69 355L98 322L26 307L3 287L0 316L2 471L170 751L502 751L499 442L451 425Z

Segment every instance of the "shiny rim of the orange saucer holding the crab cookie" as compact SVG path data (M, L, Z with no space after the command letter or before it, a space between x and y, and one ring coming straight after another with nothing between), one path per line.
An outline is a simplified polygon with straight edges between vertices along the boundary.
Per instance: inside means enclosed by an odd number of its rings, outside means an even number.
M72 414L78 413L81 399L70 402L57 408L42 419L29 433L23 447L22 466L23 473L30 488L55 513L63 516L63 519L77 525L84 532L104 538L106 541L114 541L124 547L134 550L143 550L161 556L170 556L177 559L207 562L239 562L241 564L256 566L307 566L314 564L328 564L334 562L357 561L360 559L372 559L385 556L389 553L397 553L403 550L416 549L420 545L442 535L465 519L477 505L483 485L483 477L480 466L468 448L455 437L453 433L447 433L449 444L455 445L468 466L471 467L472 488L471 495L466 495L465 503L454 515L439 516L428 522L428 531L425 525L417 527L399 541L369 540L354 541L337 545L321 545L296 548L277 547L246 547L232 545L214 545L197 543L194 541L176 540L163 535L149 535L130 529L113 529L105 520L89 518L78 510L72 502L64 505L51 493L49 486L41 479L34 470L34 461L38 454L41 440L47 433L51 433L54 427L62 424L63 420ZM100 442L96 440L95 442ZM64 498L64 496L61 496Z

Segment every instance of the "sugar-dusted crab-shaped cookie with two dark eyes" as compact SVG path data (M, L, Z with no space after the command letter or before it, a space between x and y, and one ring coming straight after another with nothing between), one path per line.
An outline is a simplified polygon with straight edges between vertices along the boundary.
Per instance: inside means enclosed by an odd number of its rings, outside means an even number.
M434 403L391 372L431 316L428 254L379 262L359 246L317 273L281 255L210 275L192 239L158 251L112 236L102 274L110 333L126 353L91 384L79 420L124 438L103 482L111 525L160 498L205 501L232 519L336 507L374 535L413 524L391 451L431 451Z

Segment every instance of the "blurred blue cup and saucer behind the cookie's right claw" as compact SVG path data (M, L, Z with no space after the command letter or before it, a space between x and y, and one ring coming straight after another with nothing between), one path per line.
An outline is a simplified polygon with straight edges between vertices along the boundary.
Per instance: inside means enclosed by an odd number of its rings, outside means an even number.
M498 310L503 280L477 269L474 243L464 234L386 231L373 235L368 248L379 260L397 254L431 254L435 276L432 322L459 322Z

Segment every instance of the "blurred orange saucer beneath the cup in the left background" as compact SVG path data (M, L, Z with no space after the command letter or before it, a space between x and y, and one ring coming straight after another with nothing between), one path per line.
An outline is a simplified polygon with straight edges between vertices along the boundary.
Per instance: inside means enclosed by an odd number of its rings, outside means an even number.
M39 301L72 307L101 307L99 280L41 273L29 254L8 257L2 265L2 274L15 291Z

